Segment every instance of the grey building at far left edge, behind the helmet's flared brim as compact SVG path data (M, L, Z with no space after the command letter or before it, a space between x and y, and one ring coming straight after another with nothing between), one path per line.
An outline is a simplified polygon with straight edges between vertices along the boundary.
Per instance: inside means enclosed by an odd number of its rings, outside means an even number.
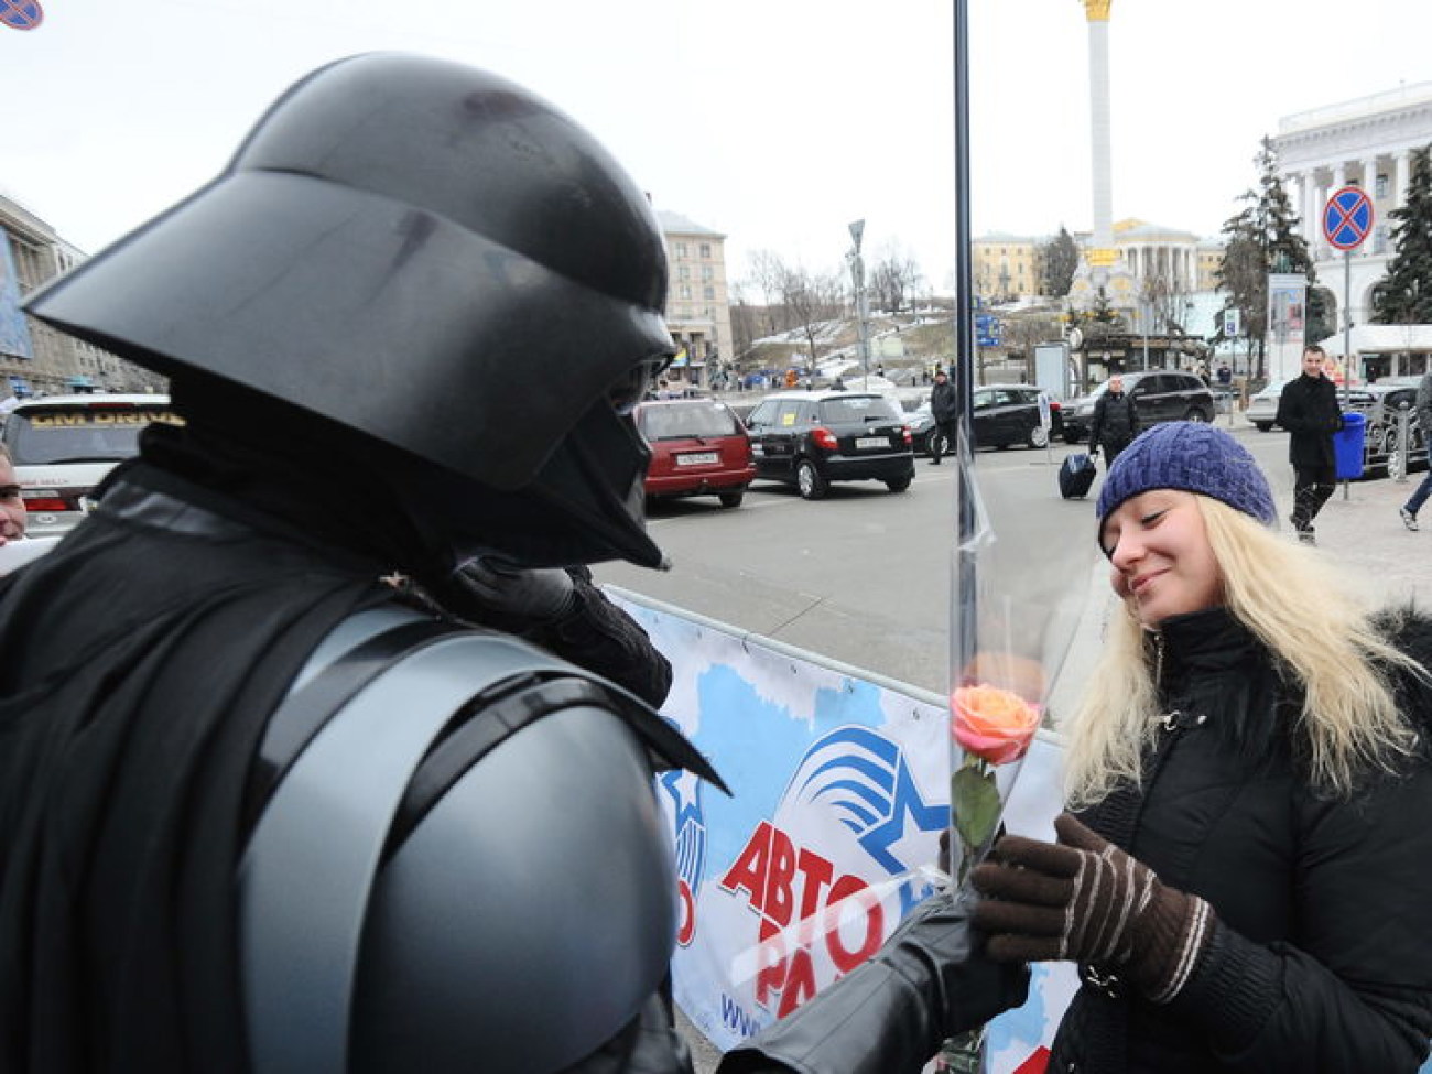
M20 309L32 291L80 261L50 225L0 195L0 397L163 390L155 374Z

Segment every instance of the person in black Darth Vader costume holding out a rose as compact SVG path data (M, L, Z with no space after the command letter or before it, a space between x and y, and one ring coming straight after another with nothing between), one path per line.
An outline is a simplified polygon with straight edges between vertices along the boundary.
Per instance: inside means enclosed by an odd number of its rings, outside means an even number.
M0 583L0 1070L690 1070L652 772L719 776L584 573L662 564L664 291L570 119L372 54L32 296L186 424ZM722 1070L918 1070L1024 995L965 918Z

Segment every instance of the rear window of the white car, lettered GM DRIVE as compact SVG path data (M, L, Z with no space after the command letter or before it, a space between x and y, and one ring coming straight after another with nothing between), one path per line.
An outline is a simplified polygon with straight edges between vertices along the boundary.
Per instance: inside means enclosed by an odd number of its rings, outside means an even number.
M16 465L115 463L139 453L139 431L152 421L179 417L163 407L46 407L11 414L4 438Z

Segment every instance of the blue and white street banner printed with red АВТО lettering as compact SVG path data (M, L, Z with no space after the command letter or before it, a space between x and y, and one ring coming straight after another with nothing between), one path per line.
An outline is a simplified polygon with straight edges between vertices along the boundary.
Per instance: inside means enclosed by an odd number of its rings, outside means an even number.
M727 1050L865 961L934 889L947 710L937 695L611 596L673 664L663 715L733 792L686 773L659 782L682 904L676 1000ZM1058 758L1041 733L1005 815L1011 831L1054 838ZM1075 987L1073 967L1035 967L1028 1004L991 1025L987 1070L1042 1067Z

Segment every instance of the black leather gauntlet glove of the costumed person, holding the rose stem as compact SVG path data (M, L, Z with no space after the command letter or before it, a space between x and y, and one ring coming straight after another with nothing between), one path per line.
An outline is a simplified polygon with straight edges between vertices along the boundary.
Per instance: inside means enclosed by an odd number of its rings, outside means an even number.
M974 949L968 895L932 895L875 957L775 1025L726 1053L717 1074L915 1074L941 1041L1018 1007L1024 965Z

